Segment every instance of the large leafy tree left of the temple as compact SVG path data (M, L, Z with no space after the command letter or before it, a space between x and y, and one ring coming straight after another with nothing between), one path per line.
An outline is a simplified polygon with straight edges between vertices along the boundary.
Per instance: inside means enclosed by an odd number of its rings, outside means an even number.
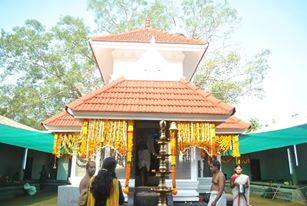
M50 30L37 20L27 20L12 32L2 30L1 114L39 128L40 121L65 104L101 86L88 33L82 20L69 16Z

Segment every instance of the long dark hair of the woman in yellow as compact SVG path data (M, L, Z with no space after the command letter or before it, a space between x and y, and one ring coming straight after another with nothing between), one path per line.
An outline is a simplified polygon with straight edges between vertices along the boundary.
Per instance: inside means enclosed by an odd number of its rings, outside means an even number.
M103 160L102 169L93 180L91 191L96 202L106 200L113 189L113 179L116 178L115 168L117 161L113 157L107 157Z

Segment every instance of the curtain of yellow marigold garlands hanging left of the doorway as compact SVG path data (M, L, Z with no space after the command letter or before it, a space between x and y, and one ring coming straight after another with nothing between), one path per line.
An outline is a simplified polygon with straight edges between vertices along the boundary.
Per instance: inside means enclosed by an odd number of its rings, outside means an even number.
M122 120L83 120L81 133L55 133L53 154L64 154L90 159L96 151L110 147L121 156L126 155L127 122Z

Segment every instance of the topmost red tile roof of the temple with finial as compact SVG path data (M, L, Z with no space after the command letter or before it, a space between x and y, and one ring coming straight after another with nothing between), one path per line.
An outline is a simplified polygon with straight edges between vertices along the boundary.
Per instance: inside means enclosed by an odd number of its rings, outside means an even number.
M144 28L134 31L128 31L118 34L110 35L95 35L91 37L92 41L107 41L107 42L137 42L148 43L151 38L155 38L156 43L167 44L192 44L192 45L204 45L204 42L199 39L190 39L181 34L170 34L158 29Z

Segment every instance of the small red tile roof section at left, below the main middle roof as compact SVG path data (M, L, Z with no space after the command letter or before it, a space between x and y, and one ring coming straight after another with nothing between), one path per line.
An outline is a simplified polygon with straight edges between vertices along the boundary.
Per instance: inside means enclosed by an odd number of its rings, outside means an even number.
M66 111L62 111L42 122L42 125L54 127L81 127L81 123Z

